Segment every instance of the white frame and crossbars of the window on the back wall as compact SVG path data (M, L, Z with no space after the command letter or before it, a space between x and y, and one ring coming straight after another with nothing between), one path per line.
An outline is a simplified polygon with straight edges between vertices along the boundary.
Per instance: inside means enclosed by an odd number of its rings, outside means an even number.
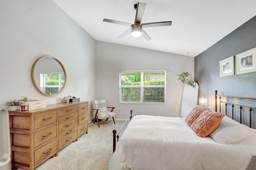
M138 73L140 72L141 79L140 85L122 85L121 84L121 74L122 73ZM164 85L144 85L144 73L147 72L164 72ZM130 87L130 88L138 88L140 87L140 101L122 101L122 88ZM164 87L164 101L163 102L148 102L144 101L144 88L148 87ZM166 70L131 70L131 71L120 71L119 72L119 103L133 103L133 104L166 104Z

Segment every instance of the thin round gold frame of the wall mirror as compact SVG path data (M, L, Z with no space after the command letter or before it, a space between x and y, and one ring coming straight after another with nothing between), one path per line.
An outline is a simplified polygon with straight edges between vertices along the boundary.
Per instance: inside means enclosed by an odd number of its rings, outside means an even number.
M60 66L61 66L61 68L62 68L62 70L63 70L63 73L64 73L64 77L65 77L65 82L64 82L64 84L63 84L63 87L60 89L60 91L59 91L58 93L53 94L53 95L44 93L44 92L40 89L40 87L38 87L38 85L36 84L35 77L34 77L34 72L35 72L36 64L38 64L38 62L41 61L41 60L44 59L44 58L52 58L52 59L54 59L55 61L57 61L57 62L60 64ZM58 95L58 94L64 89L64 87L65 87L65 85L66 85L67 74L66 74L66 70L65 70L64 66L62 65L62 63L61 63L56 57L52 57L52 56L46 55L46 56L42 56L42 57L38 58L38 59L34 62L33 66L32 66L32 69L31 69L31 79L32 79L32 82L33 82L33 84L34 84L34 87L35 87L41 94L46 95L46 96L55 96L55 95Z

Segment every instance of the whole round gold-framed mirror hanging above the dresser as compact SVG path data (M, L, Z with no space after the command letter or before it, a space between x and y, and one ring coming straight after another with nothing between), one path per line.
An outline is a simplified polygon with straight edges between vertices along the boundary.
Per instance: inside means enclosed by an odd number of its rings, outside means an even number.
M38 58L31 69L31 78L36 89L46 96L57 95L66 84L66 71L55 57Z

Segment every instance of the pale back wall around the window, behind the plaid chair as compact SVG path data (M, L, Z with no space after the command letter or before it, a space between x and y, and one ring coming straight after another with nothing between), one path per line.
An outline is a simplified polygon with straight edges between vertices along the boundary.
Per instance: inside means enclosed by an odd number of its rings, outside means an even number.
M177 79L187 71L186 56L98 41L96 49L96 96L116 107L116 119L126 119L130 110L133 115L180 116L184 84ZM188 58L194 79L194 57ZM166 69L166 104L120 104L119 71L148 69Z

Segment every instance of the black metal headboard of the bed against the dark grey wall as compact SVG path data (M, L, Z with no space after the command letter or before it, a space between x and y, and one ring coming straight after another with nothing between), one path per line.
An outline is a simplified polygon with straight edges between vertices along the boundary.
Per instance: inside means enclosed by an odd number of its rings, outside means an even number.
M256 107L253 106L246 106L246 105L239 105L239 104L234 104L234 103L228 103L226 101L222 101L221 97L226 97L226 98L236 98L236 99L249 99L249 100L256 100L256 98L252 97L238 97L238 96L226 96L226 95L217 95L217 90L215 90L215 111L217 112L217 96L219 96L220 99L220 112L221 112L221 103L225 103L225 115L227 115L227 105L231 105L232 107L232 119L234 119L234 106L240 106L240 123L242 123L242 109L243 107L249 108L250 111L250 128L252 128L252 109L256 109Z

